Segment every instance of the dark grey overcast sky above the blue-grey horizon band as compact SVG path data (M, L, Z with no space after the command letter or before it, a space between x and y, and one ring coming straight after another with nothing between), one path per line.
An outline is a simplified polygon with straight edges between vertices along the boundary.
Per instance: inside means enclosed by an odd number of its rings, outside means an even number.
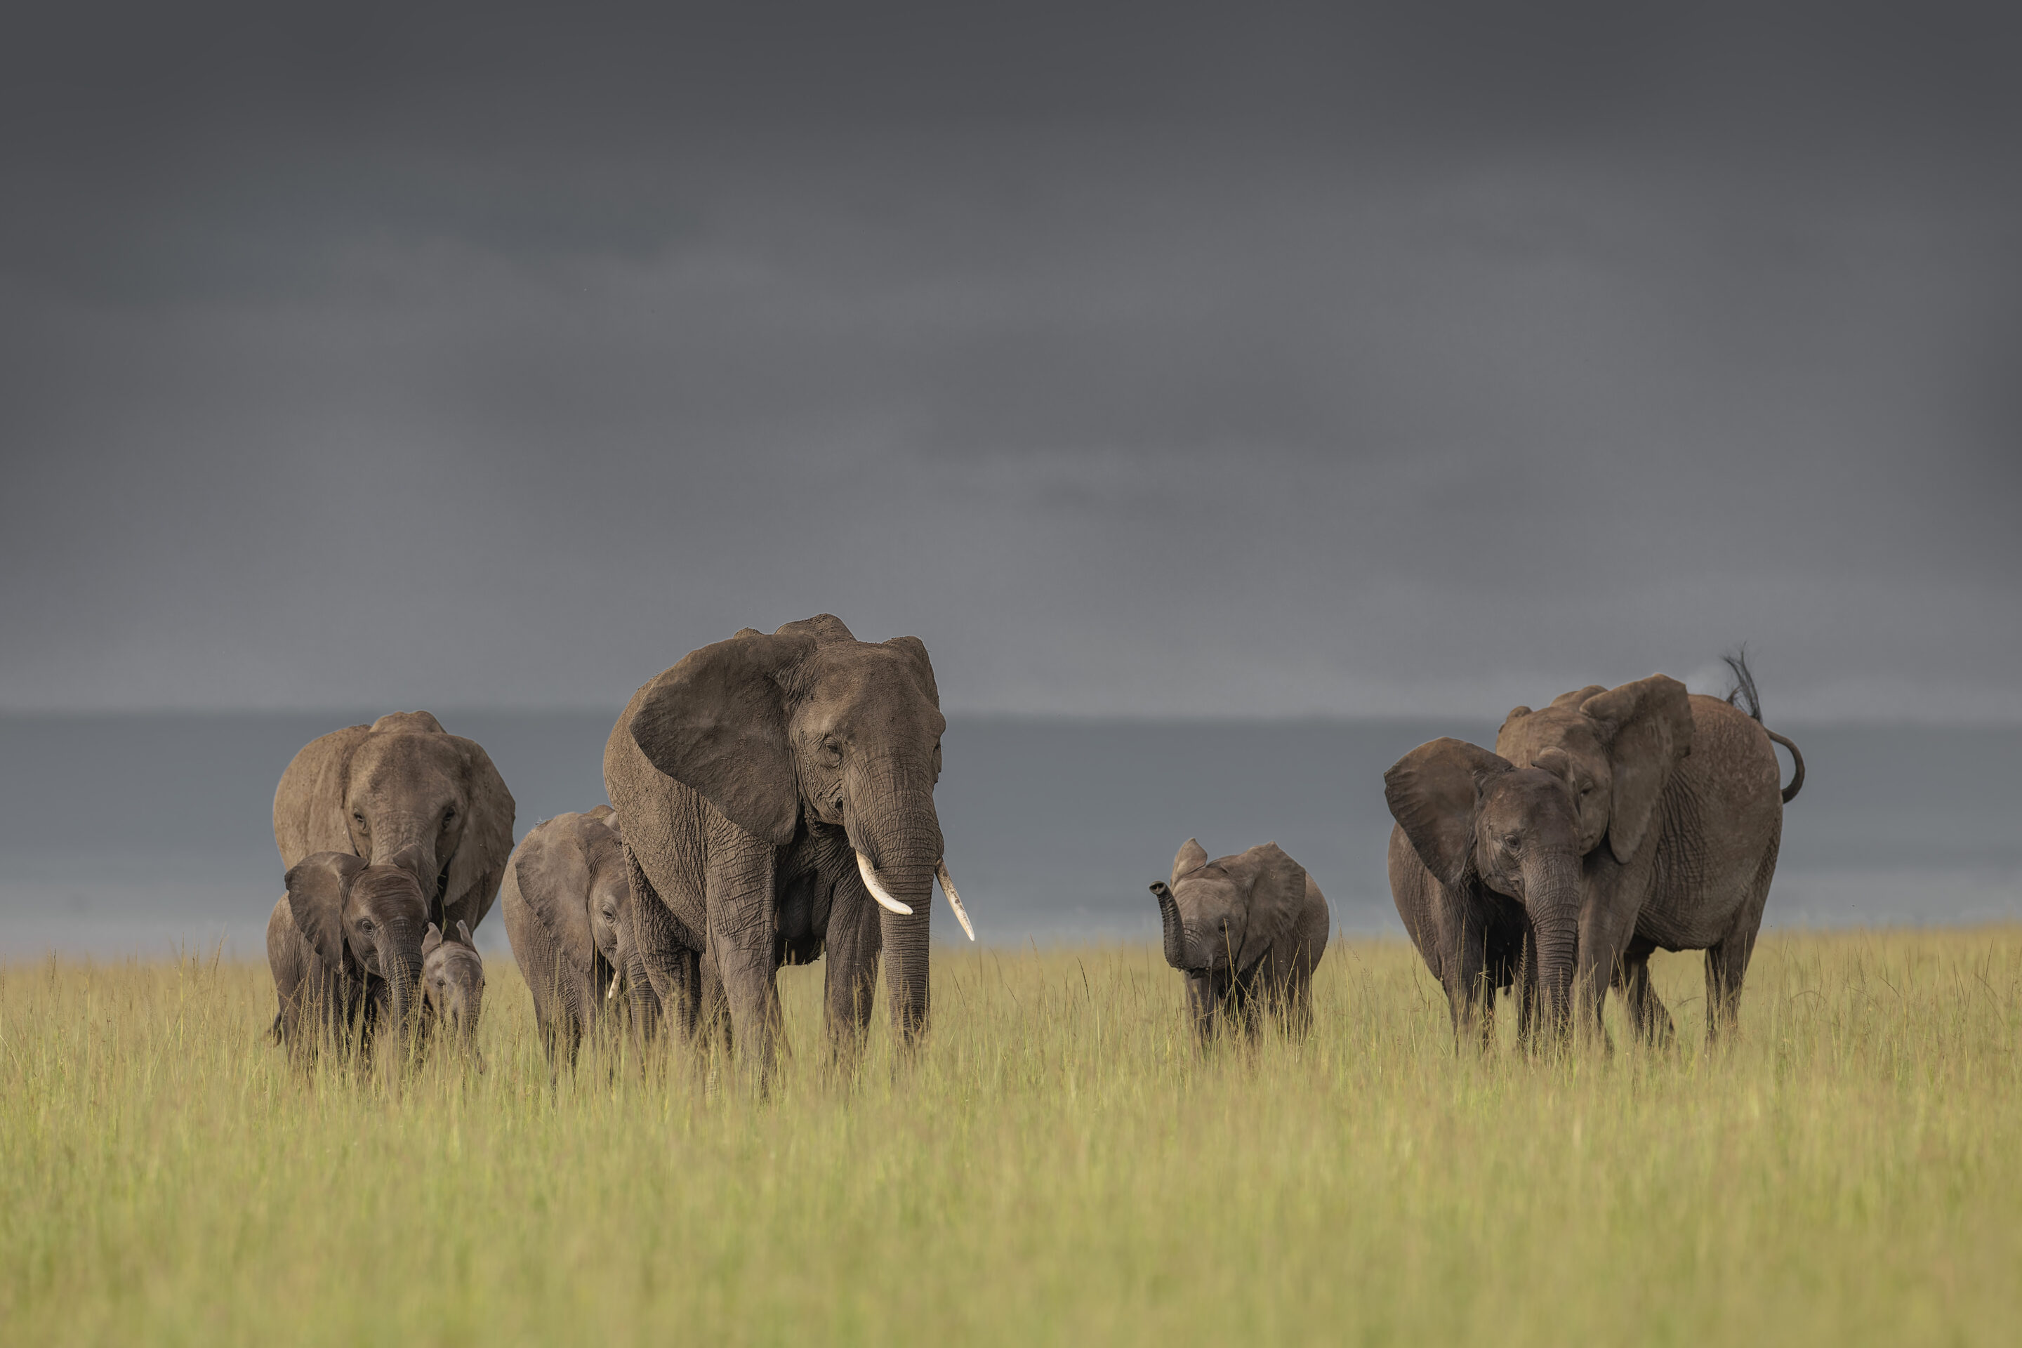
M28 4L0 709L2022 719L2012 4Z

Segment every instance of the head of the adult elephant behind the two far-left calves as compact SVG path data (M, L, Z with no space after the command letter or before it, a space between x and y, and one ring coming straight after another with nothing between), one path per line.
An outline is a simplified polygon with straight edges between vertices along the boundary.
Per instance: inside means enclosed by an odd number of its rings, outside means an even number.
M338 808L352 851L374 865L412 849L429 916L445 922L451 895L477 889L512 851L514 800L473 740L443 732L427 711L382 715L350 752ZM471 922L483 918L477 897Z

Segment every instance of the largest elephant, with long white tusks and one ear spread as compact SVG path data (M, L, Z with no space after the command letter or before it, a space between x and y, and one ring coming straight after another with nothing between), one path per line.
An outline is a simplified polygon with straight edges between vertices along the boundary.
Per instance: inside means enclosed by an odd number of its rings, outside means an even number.
M837 1049L869 1025L880 954L894 1031L926 1031L936 877L975 940L934 814L942 730L920 639L857 641L831 614L744 629L633 695L605 744L605 788L625 821L639 968L683 1037L704 956L760 1079L780 964L827 954Z

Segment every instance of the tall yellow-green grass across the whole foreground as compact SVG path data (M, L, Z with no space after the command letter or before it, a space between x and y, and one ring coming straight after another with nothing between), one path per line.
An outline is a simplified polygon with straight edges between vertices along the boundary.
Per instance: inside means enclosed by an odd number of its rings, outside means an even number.
M934 1035L768 1099L291 1069L255 964L0 976L0 1340L2016 1342L2022 930L1771 936L1739 1041L1456 1055L1337 942L1304 1045L1195 1057L1153 950L948 952ZM1504 1037L1508 1035L1504 1017Z

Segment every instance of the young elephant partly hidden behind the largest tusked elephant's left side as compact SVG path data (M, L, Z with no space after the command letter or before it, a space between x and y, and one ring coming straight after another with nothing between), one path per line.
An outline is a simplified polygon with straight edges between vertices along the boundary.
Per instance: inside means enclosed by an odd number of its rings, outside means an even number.
M659 996L631 938L631 879L617 810L546 819L520 841L505 867L499 907L514 960L534 994L534 1021L548 1057L548 1081L570 1069L582 1043L627 1013L633 1041L651 1041ZM716 964L702 960L702 1015L720 1019ZM728 1033L728 1031L726 1031Z

